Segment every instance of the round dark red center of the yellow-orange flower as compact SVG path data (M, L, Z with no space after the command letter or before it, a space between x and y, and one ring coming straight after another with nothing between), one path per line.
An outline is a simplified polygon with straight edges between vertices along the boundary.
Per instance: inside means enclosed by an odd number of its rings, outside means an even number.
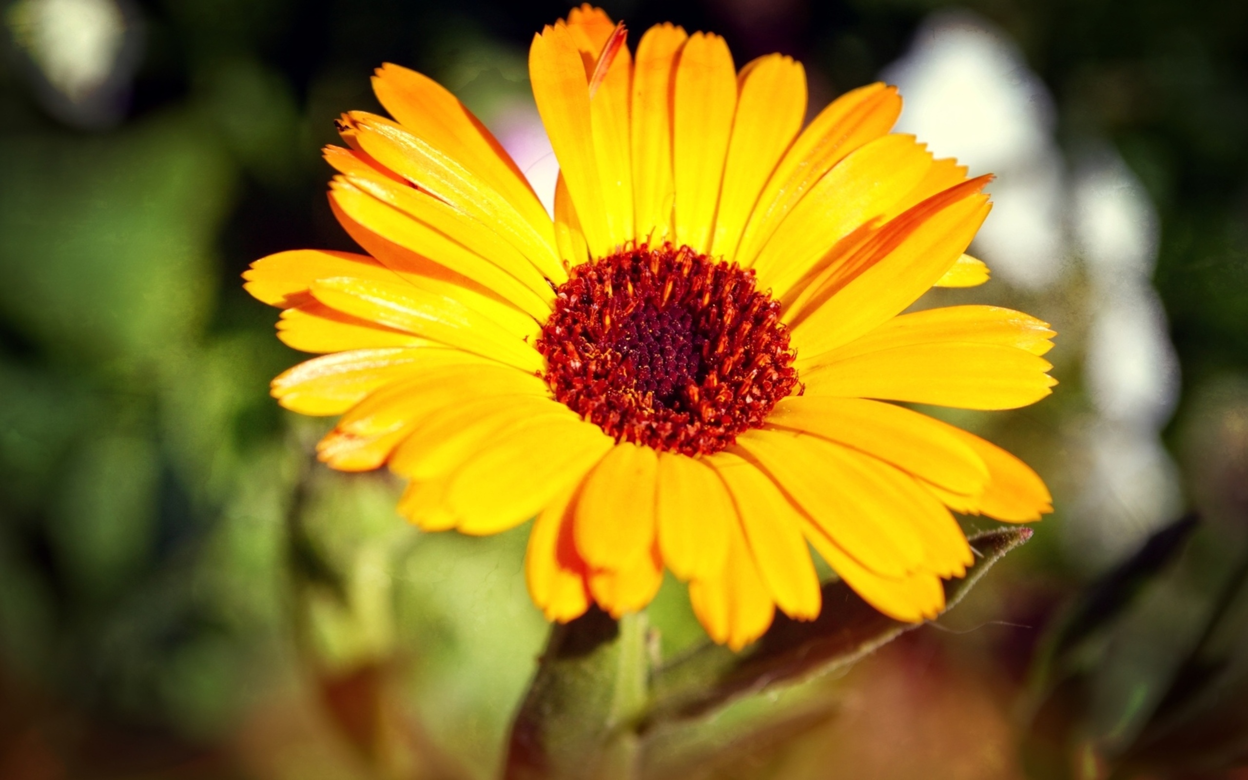
M577 266L557 293L537 343L545 381L617 441L719 452L797 388L780 305L754 271L643 243Z

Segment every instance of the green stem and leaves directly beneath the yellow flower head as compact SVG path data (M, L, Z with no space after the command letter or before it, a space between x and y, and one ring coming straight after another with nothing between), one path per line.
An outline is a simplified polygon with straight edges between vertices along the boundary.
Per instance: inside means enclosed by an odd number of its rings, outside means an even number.
M1003 528L973 537L978 559L963 579L945 584L947 609L1031 533ZM847 666L920 625L885 617L842 582L822 592L829 607L816 620L778 618L743 653L706 643L653 674L656 638L648 636L644 615L617 624L593 610L555 626L517 715L504 776L688 776L711 756L821 723L829 703L795 683Z

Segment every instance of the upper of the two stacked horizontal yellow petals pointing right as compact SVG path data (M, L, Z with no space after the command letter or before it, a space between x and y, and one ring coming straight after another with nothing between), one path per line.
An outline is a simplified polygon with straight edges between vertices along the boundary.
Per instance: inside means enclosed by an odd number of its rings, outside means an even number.
M1032 354L1053 348L1047 322L1000 306L947 306L899 314L844 347L812 357L799 356L799 371L810 371L869 352L946 342L1017 347Z

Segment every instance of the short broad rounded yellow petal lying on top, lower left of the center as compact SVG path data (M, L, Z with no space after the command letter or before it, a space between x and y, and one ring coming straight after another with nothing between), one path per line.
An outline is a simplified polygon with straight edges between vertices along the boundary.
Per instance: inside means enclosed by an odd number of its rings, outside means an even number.
M542 417L510 428L451 478L448 504L467 534L507 530L579 482L614 446L582 419Z

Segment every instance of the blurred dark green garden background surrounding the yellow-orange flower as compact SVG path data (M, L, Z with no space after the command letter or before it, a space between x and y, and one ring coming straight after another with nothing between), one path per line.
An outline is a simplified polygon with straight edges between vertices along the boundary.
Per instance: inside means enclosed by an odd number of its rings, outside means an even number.
M240 273L351 250L319 147L384 61L473 109L544 197L528 87L559 2L0 2L0 778L488 778L547 626L527 528L423 535L316 464L301 356ZM604 2L781 51L811 111L885 79L996 172L972 251L1061 381L936 413L1056 513L940 624L820 680L714 778L1248 778L1248 4ZM967 518L968 530L991 525ZM665 654L701 639L684 590Z

